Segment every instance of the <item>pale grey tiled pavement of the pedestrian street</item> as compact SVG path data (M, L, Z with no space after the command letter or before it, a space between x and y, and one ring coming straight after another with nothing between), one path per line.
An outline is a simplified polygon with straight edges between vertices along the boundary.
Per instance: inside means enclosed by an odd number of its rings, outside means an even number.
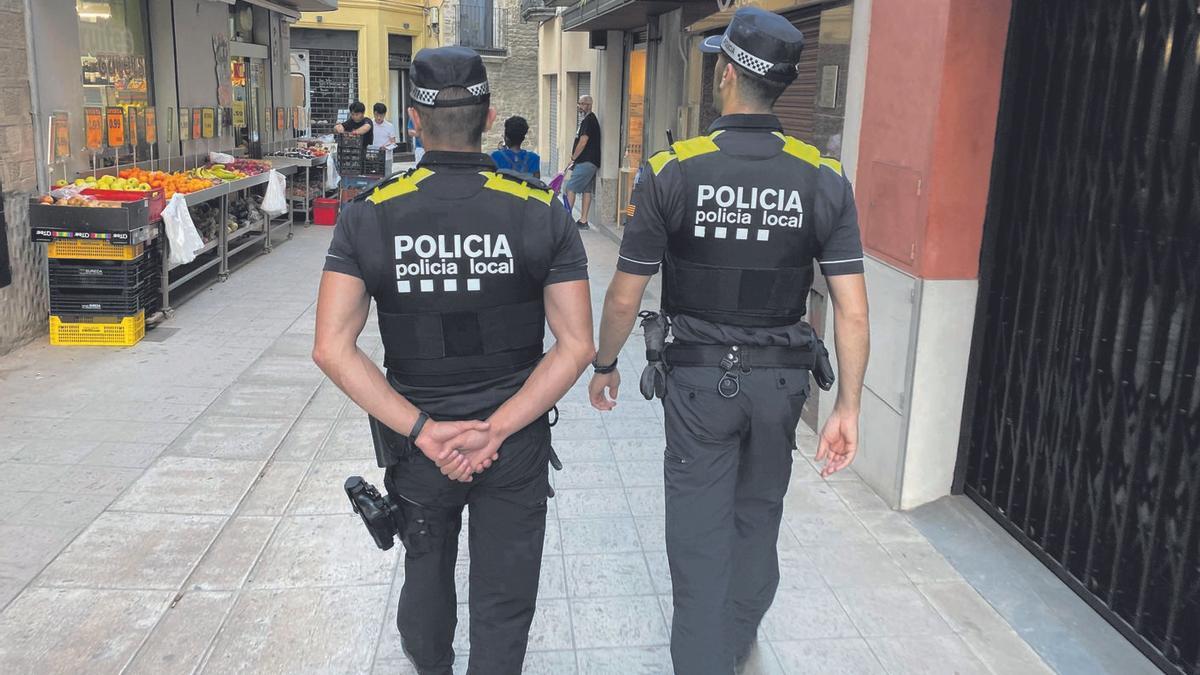
M584 239L599 305L616 250ZM376 549L342 492L382 483L366 418L308 358L328 240L298 232L161 341L0 359L0 673L414 671L400 546ZM362 345L378 356L373 324ZM559 406L529 673L670 673L661 408L631 346L614 413L586 381ZM905 515L852 472L823 482L802 444L750 673L1049 671Z

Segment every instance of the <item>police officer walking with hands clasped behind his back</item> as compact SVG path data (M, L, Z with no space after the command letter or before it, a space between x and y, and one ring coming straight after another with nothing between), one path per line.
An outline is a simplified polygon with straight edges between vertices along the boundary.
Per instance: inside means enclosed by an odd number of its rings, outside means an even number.
M480 151L496 110L479 55L424 49L412 77L426 154L338 219L313 358L370 413L402 510L404 651L422 675L451 673L469 506L468 673L515 675L551 494L547 411L594 356L587 256L545 185L498 173ZM372 299L386 376L356 346ZM556 342L544 354L546 322Z

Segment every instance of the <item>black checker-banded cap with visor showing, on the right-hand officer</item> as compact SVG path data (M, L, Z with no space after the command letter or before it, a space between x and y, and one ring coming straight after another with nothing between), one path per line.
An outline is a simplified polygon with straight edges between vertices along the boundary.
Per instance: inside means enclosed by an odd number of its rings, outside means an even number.
M780 84L796 79L803 49L804 34L792 22L760 7L738 10L725 35L714 35L700 44L706 54L724 52L756 77Z

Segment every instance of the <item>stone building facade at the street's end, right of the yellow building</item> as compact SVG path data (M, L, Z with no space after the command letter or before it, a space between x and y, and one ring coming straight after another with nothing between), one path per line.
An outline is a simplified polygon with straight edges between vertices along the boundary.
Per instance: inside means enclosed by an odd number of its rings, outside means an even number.
M484 135L484 150L491 153L504 141L504 120L521 115L529 123L524 148L538 148L538 22L521 20L520 0L494 0L504 30L504 55L484 55L492 85L496 125ZM442 44L457 44L457 0L442 5ZM546 161L548 157L544 157Z

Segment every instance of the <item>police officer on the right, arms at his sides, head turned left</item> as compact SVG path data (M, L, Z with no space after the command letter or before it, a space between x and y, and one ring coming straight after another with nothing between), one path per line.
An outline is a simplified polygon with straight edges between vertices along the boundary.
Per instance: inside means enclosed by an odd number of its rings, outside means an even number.
M791 23L754 7L704 42L718 54L722 117L642 169L605 300L590 383L600 410L616 405L618 353L662 265L673 342L666 369L652 363L643 377L643 394L665 384L671 653L682 675L733 673L779 585L776 540L806 371L828 369L817 377L826 386L833 376L803 321L814 261L833 298L841 380L821 434L823 474L848 466L857 449L868 327L853 195L836 161L782 133L772 114L802 47ZM658 351L648 342L649 357Z

